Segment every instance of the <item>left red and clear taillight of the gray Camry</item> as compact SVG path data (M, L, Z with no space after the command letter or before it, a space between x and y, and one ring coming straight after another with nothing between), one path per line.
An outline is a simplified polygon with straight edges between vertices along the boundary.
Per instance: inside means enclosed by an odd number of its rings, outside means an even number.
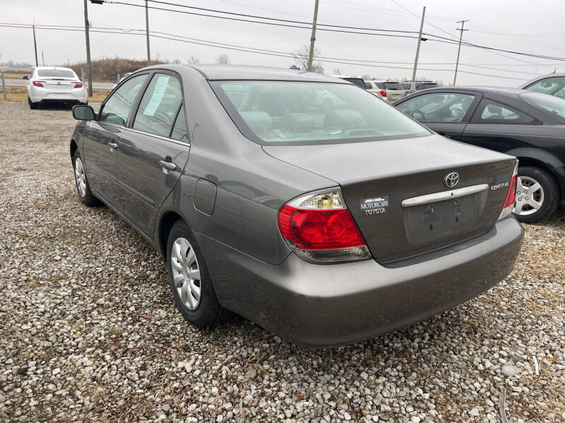
M342 198L336 188L304 195L280 208L280 234L300 258L314 263L371 258Z

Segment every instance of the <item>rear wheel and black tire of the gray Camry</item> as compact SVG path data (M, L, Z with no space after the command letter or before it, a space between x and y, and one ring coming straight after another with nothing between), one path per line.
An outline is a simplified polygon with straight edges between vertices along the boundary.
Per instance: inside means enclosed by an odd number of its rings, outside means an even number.
M174 302L191 324L213 327L231 316L218 302L202 252L182 220L169 232L167 267Z

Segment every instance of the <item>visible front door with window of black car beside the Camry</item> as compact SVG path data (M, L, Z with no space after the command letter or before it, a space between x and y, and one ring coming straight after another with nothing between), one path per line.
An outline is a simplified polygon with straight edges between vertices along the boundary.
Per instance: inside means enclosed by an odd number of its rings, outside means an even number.
M436 91L415 95L395 106L439 135L460 140L480 97L472 91Z

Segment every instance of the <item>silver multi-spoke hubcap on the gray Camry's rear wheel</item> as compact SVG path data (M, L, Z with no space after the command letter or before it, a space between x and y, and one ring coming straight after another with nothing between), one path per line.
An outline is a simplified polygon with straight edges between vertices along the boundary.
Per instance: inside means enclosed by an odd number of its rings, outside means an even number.
M183 305L194 310L201 301L200 267L194 248L186 238L174 240L171 251L171 269L174 287Z

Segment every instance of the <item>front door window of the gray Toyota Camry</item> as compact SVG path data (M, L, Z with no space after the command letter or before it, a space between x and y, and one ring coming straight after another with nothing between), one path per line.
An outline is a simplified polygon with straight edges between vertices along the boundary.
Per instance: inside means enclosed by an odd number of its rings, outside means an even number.
M147 78L147 75L138 75L118 87L102 107L98 121L125 126L129 111L143 82L145 82L145 78Z

